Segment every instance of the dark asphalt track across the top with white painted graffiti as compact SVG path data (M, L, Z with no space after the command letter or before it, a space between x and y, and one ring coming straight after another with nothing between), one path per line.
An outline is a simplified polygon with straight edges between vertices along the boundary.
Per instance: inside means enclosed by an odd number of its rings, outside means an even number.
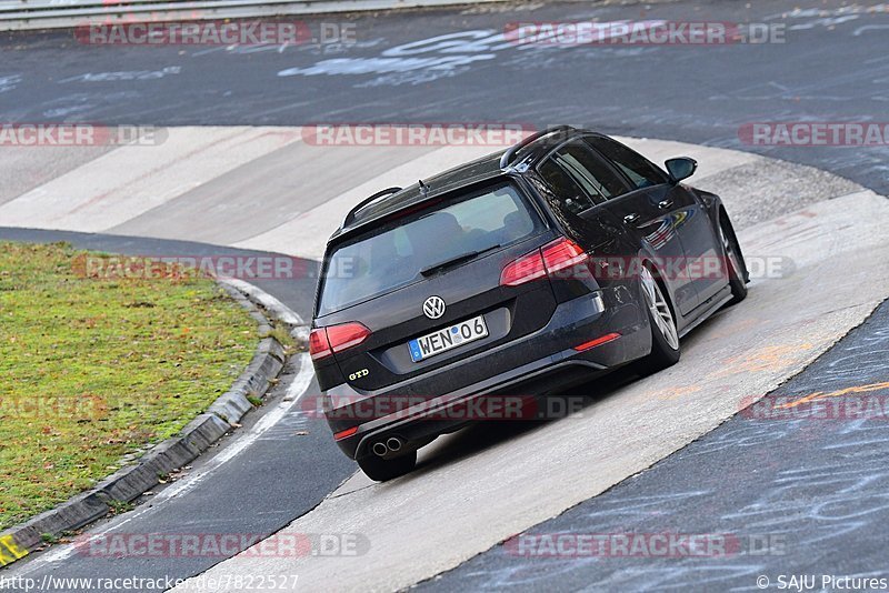
M9 34L0 121L569 122L752 150L887 194L886 145L748 147L738 137L751 122L885 121L886 10L838 0L552 2L308 19L312 31L317 21L353 23L353 47L147 49L83 46L66 31ZM519 49L498 37L515 21L593 18L765 23L783 27L785 42Z

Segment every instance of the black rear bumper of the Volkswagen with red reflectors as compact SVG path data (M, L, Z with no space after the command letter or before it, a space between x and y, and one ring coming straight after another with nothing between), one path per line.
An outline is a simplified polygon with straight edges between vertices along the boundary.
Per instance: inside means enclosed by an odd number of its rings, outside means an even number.
M538 359L429 398L399 396L410 392L403 383L369 394L348 384L339 385L329 392L331 402L347 403L327 413L328 423L334 433L358 426L354 434L337 444L350 458L359 459L371 454L374 442L390 436L408 443L428 442L477 420L546 418L538 404L548 392L589 380L650 351L650 332L642 320L646 318L632 303L606 309L602 299L575 299L561 303L541 330L503 345L540 352ZM583 352L573 349L612 332L620 333L620 338ZM502 360L503 355L483 352L437 372L459 373L466 364L485 363L490 358Z

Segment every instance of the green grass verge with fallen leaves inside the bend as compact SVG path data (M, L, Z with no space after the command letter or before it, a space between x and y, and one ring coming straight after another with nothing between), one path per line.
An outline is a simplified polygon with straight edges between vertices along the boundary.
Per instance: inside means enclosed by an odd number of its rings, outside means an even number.
M253 354L211 280L89 279L83 257L0 242L0 530L179 432Z

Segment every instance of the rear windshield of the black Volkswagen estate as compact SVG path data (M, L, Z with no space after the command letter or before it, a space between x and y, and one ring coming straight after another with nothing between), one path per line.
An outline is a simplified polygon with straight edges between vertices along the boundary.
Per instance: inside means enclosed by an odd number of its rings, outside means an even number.
M539 219L509 183L424 210L339 247L324 262L318 316L423 279L430 267L532 235Z

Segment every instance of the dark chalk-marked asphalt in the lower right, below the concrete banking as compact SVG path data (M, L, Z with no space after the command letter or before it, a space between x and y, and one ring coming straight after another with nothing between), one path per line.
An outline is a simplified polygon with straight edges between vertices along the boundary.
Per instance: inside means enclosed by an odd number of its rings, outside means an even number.
M889 302L770 396L797 400L880 383L886 393L887 328ZM819 420L813 409L783 418L739 414L537 525L523 550L519 540L498 545L417 590L742 591L761 576L778 586L782 575L786 582L819 575L816 589L820 575L886 579L886 532L877 525L889 520L887 454L885 416L837 422ZM560 555L533 539L608 533L726 534L737 547L709 557L597 556L572 547Z

